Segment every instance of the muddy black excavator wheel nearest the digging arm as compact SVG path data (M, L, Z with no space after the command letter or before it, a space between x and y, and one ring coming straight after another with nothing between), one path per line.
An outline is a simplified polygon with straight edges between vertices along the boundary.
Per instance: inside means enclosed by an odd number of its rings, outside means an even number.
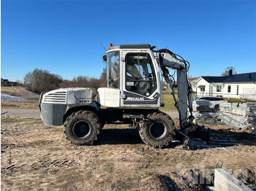
M175 124L163 112L148 114L139 130L141 139L154 148L167 147L175 135Z

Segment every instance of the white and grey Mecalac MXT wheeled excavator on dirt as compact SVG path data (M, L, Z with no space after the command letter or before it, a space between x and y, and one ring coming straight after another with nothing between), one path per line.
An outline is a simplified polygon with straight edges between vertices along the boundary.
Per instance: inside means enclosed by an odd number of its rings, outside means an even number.
M192 87L187 80L189 62L170 50L155 49L150 44L110 44L102 57L107 63L107 87L42 92L42 121L45 125L63 125L64 136L76 145L94 144L109 123L138 128L141 139L155 148L167 147L177 138L184 144L189 137L207 141L209 131L192 122L195 117ZM176 70L177 82L169 69ZM162 78L178 109L179 127L169 115L159 111L165 106Z

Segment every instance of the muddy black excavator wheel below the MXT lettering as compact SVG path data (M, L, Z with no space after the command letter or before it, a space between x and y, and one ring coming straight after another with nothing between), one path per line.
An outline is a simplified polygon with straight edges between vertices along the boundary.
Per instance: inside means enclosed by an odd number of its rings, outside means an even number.
M66 139L76 145L91 145L97 141L102 129L97 114L91 111L74 112L64 122L63 132Z

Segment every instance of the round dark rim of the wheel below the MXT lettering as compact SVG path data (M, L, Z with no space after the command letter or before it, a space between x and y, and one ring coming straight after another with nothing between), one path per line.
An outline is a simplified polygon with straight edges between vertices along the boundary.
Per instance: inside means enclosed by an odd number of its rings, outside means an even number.
M91 125L83 120L75 122L72 128L72 133L78 138L86 138L91 133Z

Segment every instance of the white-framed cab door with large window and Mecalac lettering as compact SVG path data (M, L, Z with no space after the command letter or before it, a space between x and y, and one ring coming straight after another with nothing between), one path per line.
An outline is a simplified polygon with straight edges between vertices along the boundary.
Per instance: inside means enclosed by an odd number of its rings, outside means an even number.
M159 107L159 74L148 51L122 51L123 106Z

